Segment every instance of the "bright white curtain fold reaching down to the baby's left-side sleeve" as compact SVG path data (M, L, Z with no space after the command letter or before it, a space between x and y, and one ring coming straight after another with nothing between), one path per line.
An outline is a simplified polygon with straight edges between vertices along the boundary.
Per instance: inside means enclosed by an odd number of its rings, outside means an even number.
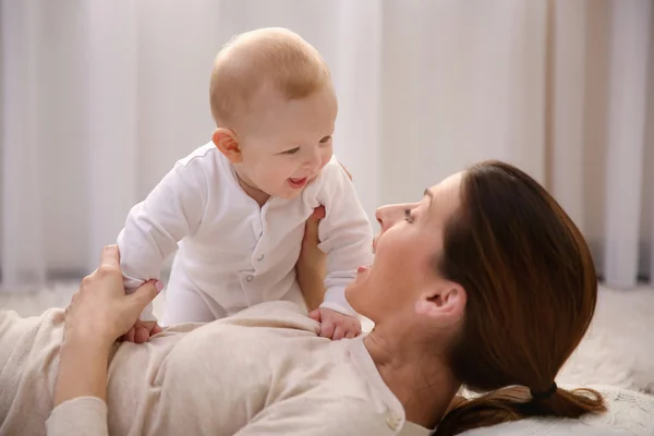
M136 2L89 1L85 47L88 259L93 270L100 249L112 243L136 203L136 180L147 160L137 143L138 50ZM96 255L94 255L96 254Z

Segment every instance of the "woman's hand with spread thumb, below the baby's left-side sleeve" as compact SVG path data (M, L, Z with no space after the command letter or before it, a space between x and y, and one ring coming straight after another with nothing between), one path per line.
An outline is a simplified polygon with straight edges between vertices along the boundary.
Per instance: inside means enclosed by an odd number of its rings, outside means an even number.
M102 250L100 266L82 280L65 314L65 340L84 340L107 349L128 332L164 284L148 281L126 295L117 245Z

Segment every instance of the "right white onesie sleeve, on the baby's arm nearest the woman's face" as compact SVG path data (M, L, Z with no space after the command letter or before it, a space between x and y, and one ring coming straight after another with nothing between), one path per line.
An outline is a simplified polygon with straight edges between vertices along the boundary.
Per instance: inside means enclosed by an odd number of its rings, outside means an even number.
M325 206L325 218L318 226L318 247L327 253L325 300L320 307L346 315L355 315L346 300L346 287L356 277L356 269L373 263L373 232L352 181L340 167L323 192L319 203Z

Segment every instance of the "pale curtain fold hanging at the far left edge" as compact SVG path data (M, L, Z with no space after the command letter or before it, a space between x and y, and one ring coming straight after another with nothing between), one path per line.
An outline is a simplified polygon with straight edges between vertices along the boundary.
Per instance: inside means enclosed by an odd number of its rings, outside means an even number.
M34 2L2 2L2 282L45 281L44 140L39 97L43 14ZM4 146L4 145L10 146Z

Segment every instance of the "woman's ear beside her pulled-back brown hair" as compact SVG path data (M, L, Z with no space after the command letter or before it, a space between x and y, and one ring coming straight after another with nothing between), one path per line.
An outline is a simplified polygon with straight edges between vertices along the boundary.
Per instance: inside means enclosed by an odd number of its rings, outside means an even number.
M459 317L465 310L467 294L463 287L453 281L444 281L415 302L415 313L421 316Z

